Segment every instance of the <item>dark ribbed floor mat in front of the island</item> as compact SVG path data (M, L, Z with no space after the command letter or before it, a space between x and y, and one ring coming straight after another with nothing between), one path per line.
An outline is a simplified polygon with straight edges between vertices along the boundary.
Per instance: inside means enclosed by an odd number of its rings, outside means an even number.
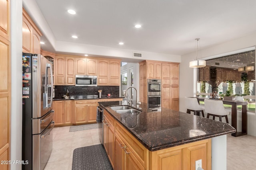
M73 152L72 170L113 170L103 145L77 148Z

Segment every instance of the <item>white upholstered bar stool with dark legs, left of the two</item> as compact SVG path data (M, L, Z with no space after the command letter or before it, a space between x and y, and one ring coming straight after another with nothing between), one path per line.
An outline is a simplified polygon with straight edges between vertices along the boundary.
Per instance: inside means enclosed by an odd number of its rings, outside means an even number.
M185 105L187 108L187 113L191 113L191 111L194 112L194 115L200 116L200 112L202 113L202 116L204 117L204 106L199 105L196 98L188 98L185 97Z

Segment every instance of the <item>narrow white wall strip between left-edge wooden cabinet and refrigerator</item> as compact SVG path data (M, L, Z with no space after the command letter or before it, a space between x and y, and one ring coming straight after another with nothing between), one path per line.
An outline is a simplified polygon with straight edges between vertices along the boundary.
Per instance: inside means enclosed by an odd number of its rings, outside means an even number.
M22 160L22 0L11 0L11 160ZM32 162L30 162L32 163ZM21 170L21 164L11 164Z

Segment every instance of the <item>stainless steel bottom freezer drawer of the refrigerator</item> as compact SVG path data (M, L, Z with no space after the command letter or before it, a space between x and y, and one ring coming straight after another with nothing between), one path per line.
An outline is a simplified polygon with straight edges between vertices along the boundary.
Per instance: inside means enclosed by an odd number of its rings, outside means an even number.
M32 160L33 170L43 170L52 152L52 129L54 121L42 132L42 134L32 135ZM38 169L39 168L39 169Z

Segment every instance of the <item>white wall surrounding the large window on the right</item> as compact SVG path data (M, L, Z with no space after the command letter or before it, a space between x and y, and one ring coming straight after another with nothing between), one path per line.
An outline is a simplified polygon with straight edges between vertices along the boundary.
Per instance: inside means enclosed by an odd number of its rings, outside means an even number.
M253 47L256 45L256 33L235 39L233 41L228 41L222 44L218 44L212 47L204 48L200 50L202 58L208 58L215 55L220 55L240 49L245 49L248 47ZM183 55L181 57L180 63L180 111L186 112L183 107L185 96L196 96L196 68L190 68L189 62L192 61L196 56L196 53L190 53ZM254 112L248 111L248 134L256 136L256 114ZM238 126L241 121L238 120Z

